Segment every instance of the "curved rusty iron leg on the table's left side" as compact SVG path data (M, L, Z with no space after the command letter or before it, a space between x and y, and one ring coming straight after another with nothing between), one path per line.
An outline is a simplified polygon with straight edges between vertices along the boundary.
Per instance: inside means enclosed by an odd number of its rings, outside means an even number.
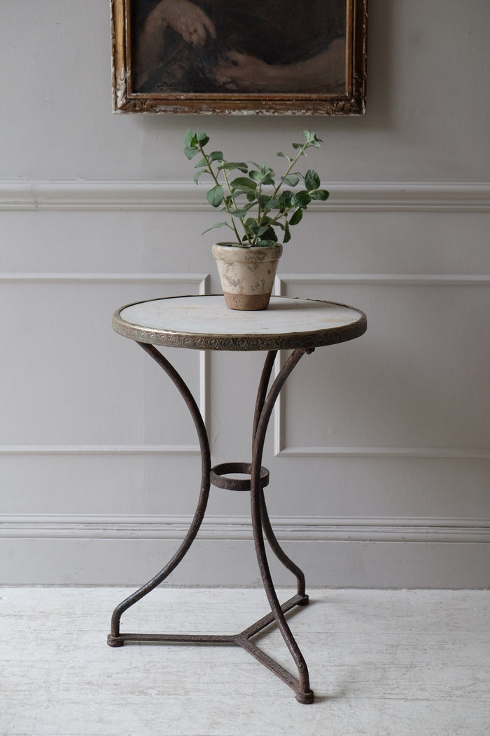
M175 570L177 565L179 565L179 562L181 562L181 559L183 559L184 555L189 550L190 545L192 545L192 542L199 531L199 527L201 526L204 517L204 512L206 511L210 486L209 473L211 470L211 453L209 450L209 440L206 427L204 426L203 418L201 416L201 411L199 411L198 405L195 403L195 399L192 396L190 389L182 380L176 369L167 361L166 358L163 357L159 350L156 350L156 347L143 342L139 342L138 344L140 347L143 347L143 350L145 350L146 353L154 358L162 369L165 370L173 383L175 383L177 389L179 389L179 392L192 414L192 420L194 421L195 428L198 432L199 446L201 447L201 492L189 531L187 531L184 541L181 543L172 559L170 559L170 562L168 562L167 565L165 565L165 567L160 570L156 576L154 576L154 578L151 578L148 583L145 583L145 585L140 587L136 592L129 595L128 598L116 606L114 613L112 614L111 633L107 637L107 643L109 646L122 646L124 643L123 637L120 637L120 617L123 613L164 581L165 578Z

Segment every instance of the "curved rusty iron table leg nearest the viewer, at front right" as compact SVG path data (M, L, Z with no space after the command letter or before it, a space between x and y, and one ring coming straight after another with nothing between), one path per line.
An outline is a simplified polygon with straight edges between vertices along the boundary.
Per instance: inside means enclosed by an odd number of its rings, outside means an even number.
M253 453L252 453L252 473L251 473L251 513L252 513L252 526L253 526L253 538L255 541L255 548L257 554L257 560L259 562L259 570L262 576L262 583L264 584L264 590L267 594L267 599L270 604L270 609L273 612L275 621L278 625L279 631L281 631L284 642L295 661L298 668L299 680L295 683L294 690L296 693L296 699L300 703L311 703L313 701L313 692L309 687L309 673L306 666L303 654L300 652L300 648L292 635L291 629L289 629L287 620L281 609L281 604L278 601L277 594L274 589L273 580L270 576L269 564L267 562L267 555L264 545L264 535L262 534L262 524L264 518L262 517L262 509L264 503L262 502L262 489L260 483L260 468L262 465L262 453L264 450L265 435L267 432L267 425L272 414L275 400L277 399L279 392L281 391L284 382L286 381L289 374L295 368L300 358L303 357L304 353L311 352L310 350L304 350L302 348L296 348L281 371L275 378L273 385L270 388L270 392L267 395L267 399L264 401L262 411L260 411L260 417L256 424L256 431L253 437ZM267 515L267 514L266 514ZM267 517L268 520L268 517ZM265 521L265 526L267 525ZM275 537L274 537L275 539ZM282 552L282 551L281 551ZM279 558L281 559L281 558ZM289 559L289 558L287 558Z

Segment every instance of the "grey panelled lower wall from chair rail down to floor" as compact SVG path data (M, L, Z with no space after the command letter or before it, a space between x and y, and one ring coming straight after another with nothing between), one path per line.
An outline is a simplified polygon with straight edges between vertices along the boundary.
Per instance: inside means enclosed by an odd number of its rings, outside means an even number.
M368 331L305 356L278 403L264 456L278 537L312 585L485 587L489 185L331 189L277 293L364 308ZM201 461L181 397L110 321L127 302L219 289L195 243L212 213L202 188L148 180L4 182L0 209L0 579L140 584L184 536ZM264 355L168 357L213 461L247 460ZM259 584L248 506L213 489L170 582Z

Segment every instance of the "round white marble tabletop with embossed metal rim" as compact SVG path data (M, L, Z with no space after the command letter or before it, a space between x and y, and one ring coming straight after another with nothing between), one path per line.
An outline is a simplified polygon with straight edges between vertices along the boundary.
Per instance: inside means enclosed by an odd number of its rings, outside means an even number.
M118 309L112 328L131 340L194 350L288 350L346 342L366 315L334 302L271 297L261 311L228 309L223 296L167 297Z

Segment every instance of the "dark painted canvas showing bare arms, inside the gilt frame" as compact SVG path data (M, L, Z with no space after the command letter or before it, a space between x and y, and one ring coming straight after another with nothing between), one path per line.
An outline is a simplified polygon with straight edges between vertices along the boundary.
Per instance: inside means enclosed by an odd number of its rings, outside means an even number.
M134 0L145 93L335 93L345 88L345 0Z

